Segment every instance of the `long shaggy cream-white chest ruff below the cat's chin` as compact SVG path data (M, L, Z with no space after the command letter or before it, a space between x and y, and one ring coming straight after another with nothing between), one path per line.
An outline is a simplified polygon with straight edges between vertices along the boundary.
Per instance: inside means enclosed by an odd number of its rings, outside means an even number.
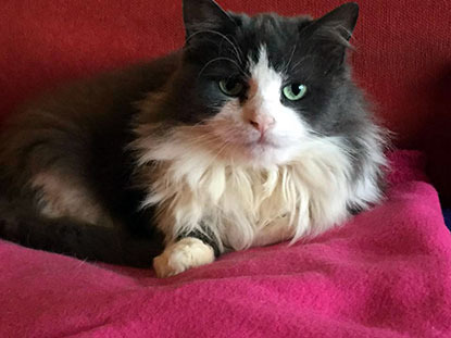
M350 162L339 139L311 139L283 165L230 163L212 148L177 135L149 147L155 160L143 205L159 205L158 224L172 241L200 223L234 250L317 234L347 216Z

